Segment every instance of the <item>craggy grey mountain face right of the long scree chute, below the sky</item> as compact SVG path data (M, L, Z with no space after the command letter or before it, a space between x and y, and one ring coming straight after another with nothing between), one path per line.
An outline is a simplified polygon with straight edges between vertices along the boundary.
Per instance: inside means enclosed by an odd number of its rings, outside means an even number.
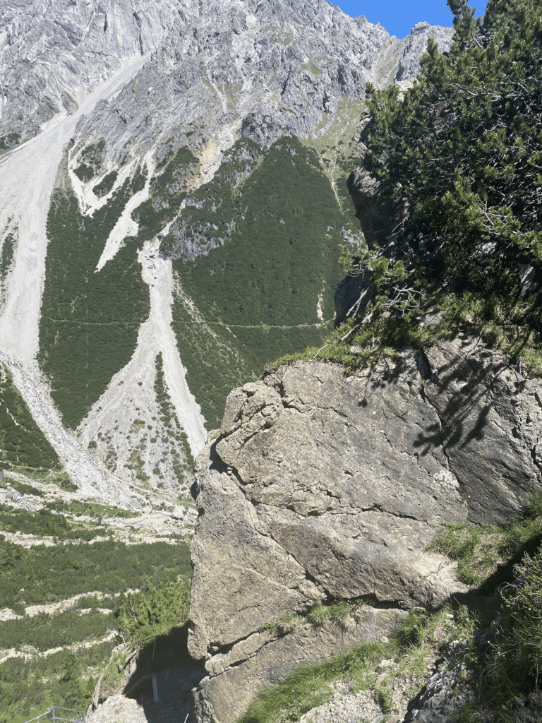
M121 3L126 20L119 24L129 38L124 46L139 53L133 1ZM111 163L122 161L126 142L134 155L154 148L158 160L184 143L201 148L209 178L240 136L262 147L283 133L321 136L345 99L363 99L367 82L394 82L400 64L403 78L415 77L426 39L442 36L445 49L444 36L452 33L424 25L413 44L410 36L390 37L381 25L363 15L353 19L324 0L184 0L174 20L168 4L160 13L151 5L148 16L142 15L152 32L141 30L141 37L150 61L116 98L100 103L79 134L104 137ZM103 52L103 64L112 64L108 49ZM183 248L182 223L172 233Z

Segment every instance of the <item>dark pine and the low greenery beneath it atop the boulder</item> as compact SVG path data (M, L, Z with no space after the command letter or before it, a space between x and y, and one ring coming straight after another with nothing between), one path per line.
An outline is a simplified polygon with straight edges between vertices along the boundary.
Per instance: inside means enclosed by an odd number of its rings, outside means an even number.
M382 197L391 206L408 202L408 212L382 248L349 251L354 269L373 269L377 291L361 317L367 329L349 341L367 346L368 331L392 339L399 329L416 339L423 310L436 307L447 316L436 333L447 333L450 320L468 324L540 370L538 4L492 0L483 24L466 1L449 7L456 28L449 54L429 41L404 100L396 86L369 89L366 164Z

